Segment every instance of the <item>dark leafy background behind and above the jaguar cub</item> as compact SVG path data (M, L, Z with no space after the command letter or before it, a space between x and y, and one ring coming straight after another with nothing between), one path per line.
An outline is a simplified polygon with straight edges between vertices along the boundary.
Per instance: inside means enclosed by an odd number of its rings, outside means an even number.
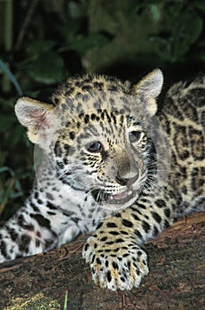
M204 0L0 1L0 223L34 178L16 99L48 100L60 81L86 72L138 81L160 67L164 89L189 80L204 71L204 18Z

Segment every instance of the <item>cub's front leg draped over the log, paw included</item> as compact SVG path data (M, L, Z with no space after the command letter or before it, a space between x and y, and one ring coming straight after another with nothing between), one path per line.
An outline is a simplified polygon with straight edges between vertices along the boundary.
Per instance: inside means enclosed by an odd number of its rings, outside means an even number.
M159 200L160 204L160 200ZM170 226L170 209L136 204L106 218L83 248L91 264L92 278L112 291L138 287L148 274L146 252L141 244Z

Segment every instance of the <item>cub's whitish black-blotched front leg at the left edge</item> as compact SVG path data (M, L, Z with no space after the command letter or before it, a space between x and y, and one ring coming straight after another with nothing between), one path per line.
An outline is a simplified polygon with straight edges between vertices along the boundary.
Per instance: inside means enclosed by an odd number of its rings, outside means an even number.
M0 263L46 252L73 240L79 232L67 214L49 203L37 205L32 197L0 229Z

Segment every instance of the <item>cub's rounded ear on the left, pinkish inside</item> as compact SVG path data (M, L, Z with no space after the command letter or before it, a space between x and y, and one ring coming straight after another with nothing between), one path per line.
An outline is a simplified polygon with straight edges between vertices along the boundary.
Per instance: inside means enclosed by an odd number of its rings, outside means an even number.
M28 128L29 140L40 144L45 142L43 139L56 118L54 106L29 97L20 97L15 105L15 112L20 123Z

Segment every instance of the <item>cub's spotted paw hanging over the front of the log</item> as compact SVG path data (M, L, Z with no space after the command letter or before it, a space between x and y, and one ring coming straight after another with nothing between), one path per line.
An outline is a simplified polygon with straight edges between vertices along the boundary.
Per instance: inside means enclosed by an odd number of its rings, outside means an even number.
M83 248L83 258L91 264L94 282L112 291L138 287L149 271L146 252L129 240L113 246L98 241L91 236Z

